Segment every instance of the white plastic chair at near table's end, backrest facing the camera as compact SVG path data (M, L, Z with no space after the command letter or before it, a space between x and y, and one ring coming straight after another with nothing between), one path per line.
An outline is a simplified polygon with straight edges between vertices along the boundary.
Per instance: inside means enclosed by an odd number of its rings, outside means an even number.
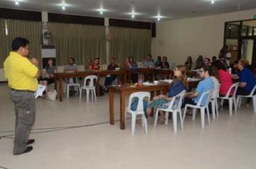
M138 99L137 110L131 110L131 102L135 98ZM137 115L142 115L142 125L145 129L145 133L146 134L148 133L148 121L143 110L143 100L149 102L149 99L150 99L150 93L148 92L131 93L129 97L128 107L125 109L125 117L127 113L131 113L131 134L132 135L134 135L135 133Z

